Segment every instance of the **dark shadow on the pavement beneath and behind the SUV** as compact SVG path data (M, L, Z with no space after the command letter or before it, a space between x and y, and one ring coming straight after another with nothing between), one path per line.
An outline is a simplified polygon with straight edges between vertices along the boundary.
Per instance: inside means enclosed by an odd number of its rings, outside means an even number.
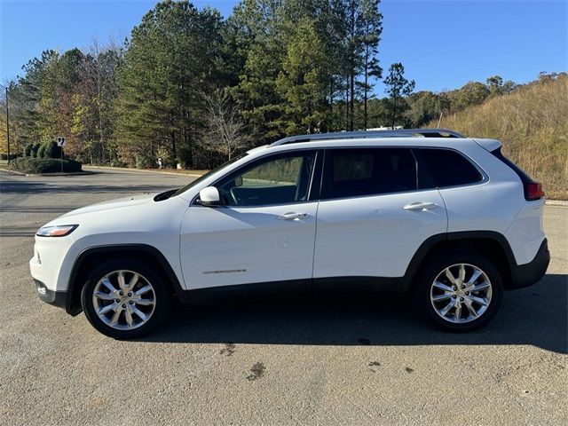
M568 353L568 275L547 274L505 293L485 327L448 333L415 314L402 296L311 298L180 309L142 341L307 345L531 344Z

